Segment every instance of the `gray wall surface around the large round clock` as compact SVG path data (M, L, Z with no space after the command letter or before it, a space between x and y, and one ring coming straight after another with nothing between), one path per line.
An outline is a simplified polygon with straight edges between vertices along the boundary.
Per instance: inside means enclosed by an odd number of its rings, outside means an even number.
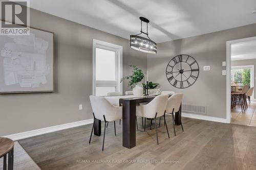
M160 83L162 90L184 93L183 103L207 106L207 116L226 118L226 41L256 36L256 24L220 32L168 41L158 44L156 55L147 55L150 80ZM194 57L200 67L198 80L189 88L178 89L169 84L165 68L179 54ZM210 65L210 71L203 71Z

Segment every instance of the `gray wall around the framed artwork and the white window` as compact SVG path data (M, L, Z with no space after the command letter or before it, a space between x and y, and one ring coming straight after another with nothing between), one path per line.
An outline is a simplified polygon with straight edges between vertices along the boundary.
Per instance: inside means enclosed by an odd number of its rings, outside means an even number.
M98 39L123 46L123 75L129 64L146 70L146 54L129 40L31 9L30 25L54 32L55 92L0 94L0 136L92 118L92 45ZM99 23L100 24L100 23ZM124 91L131 90L124 82ZM79 111L78 105L83 104Z

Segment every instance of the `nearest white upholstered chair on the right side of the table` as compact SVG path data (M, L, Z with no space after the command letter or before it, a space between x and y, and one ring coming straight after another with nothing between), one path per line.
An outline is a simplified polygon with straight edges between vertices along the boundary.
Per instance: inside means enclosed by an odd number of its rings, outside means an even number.
M157 144L158 142L158 132L157 132L157 123L156 123L156 118L157 117L164 117L164 122L165 122L165 108L167 106L168 102L168 95L163 94L163 95L158 95L156 96L150 103L145 104L145 105L139 105L136 107L136 116L141 116L145 118L144 121L144 131L146 128L146 118L149 118L151 120L155 120L155 128L156 128L156 139L157 139ZM166 122L165 122L166 124ZM169 132L168 128L166 127L166 131L169 137Z

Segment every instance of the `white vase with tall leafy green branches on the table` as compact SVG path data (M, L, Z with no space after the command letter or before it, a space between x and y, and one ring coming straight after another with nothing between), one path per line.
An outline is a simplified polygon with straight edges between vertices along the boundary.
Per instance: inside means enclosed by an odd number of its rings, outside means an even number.
M125 76L121 79L122 82L124 79L130 80L128 85L133 88L133 94L136 96L143 95L143 86L141 84L142 79L144 78L144 74L141 69L139 69L136 65L130 65L133 67L133 74L130 76Z

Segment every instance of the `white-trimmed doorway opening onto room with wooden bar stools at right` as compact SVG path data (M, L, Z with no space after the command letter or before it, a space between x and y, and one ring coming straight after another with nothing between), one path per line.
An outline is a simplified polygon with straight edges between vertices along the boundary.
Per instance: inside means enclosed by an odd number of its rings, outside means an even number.
M256 127L256 37L227 41L227 123Z

